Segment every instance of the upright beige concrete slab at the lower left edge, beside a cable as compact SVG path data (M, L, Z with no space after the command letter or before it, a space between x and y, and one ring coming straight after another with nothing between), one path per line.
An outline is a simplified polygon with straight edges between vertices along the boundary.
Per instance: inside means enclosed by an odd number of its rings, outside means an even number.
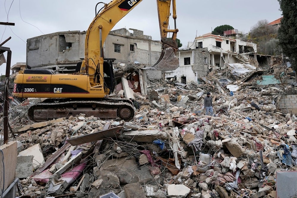
M17 142L8 142L0 146L0 150L3 152L4 163L4 183L0 181L0 189L7 189L7 187L15 180L15 168L17 165ZM2 153L0 152L1 161ZM2 163L2 162L1 162ZM0 166L0 172L3 173L3 167ZM2 178L3 179L3 178Z

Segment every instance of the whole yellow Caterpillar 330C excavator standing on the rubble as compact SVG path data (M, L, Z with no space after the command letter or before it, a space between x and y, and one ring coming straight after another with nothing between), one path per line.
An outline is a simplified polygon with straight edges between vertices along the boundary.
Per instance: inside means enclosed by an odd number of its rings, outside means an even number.
M104 4L86 32L85 58L73 74L57 74L50 69L25 69L14 80L12 95L20 98L47 98L32 105L28 115L32 121L47 121L70 115L94 115L101 119L134 117L133 103L128 99L108 97L114 91L113 58L104 58L103 43L110 30L142 0L113 0ZM174 29L168 29L172 2ZM157 0L162 53L156 64L159 70L174 70L179 61L175 56L176 1ZM172 38L167 38L172 33Z

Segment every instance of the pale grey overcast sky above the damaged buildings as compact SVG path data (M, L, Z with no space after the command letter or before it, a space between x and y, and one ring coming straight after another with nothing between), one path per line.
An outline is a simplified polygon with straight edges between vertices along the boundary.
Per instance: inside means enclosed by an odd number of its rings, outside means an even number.
M102 0L101 0L102 1ZM59 31L85 31L95 16L94 0L1 0L0 22L15 23L15 26L0 25L0 43L12 37L3 47L12 50L11 66L26 62L28 38ZM103 2L110 2L103 0ZM101 8L99 5L99 9ZM274 21L281 17L277 0L176 0L179 29L177 38L183 47L196 36L211 32L217 26L230 25L248 33L259 20ZM97 9L98 10L98 9ZM170 18L170 28L173 29ZM153 40L160 40L156 0L143 0L114 29L134 28L143 30ZM4 53L7 58L7 53ZM112 58L112 57L109 57ZM5 74L6 64L0 66Z

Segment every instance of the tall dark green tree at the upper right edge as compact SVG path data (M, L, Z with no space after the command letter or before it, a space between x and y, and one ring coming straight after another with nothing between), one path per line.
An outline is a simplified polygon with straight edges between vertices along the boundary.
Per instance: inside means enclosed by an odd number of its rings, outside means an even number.
M297 1L278 0L283 18L278 30L279 45L297 71Z

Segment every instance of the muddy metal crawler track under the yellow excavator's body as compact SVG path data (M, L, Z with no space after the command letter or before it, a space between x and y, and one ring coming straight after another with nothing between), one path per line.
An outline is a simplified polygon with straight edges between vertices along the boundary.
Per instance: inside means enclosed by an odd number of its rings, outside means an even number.
M46 99L32 105L28 110L29 119L35 122L48 121L56 118L86 114L102 120L130 121L134 117L135 107L127 99L108 98L100 100L86 99Z

